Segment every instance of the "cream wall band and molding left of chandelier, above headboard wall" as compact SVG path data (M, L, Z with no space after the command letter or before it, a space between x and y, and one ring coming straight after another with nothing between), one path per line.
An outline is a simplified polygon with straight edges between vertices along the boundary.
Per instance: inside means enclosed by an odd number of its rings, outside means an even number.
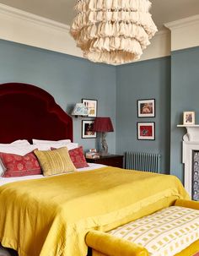
M0 39L83 57L69 26L0 4Z

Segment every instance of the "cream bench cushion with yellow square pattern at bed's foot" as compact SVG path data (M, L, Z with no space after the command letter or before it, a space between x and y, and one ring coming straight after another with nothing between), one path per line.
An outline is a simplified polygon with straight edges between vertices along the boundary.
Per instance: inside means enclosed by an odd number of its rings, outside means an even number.
M142 245L149 255L173 256L199 239L199 210L171 206L109 233Z

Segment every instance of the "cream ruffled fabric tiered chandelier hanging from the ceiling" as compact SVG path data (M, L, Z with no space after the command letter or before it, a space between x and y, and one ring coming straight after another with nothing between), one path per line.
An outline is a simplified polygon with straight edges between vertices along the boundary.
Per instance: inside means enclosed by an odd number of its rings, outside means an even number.
M130 63L157 31L148 0L78 0L71 34L83 57L98 63Z

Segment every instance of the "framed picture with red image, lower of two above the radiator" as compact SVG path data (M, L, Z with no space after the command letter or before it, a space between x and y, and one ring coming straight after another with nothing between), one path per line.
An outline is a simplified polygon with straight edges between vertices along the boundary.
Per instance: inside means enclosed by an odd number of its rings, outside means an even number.
M155 139L155 123L137 123L137 139L154 140Z

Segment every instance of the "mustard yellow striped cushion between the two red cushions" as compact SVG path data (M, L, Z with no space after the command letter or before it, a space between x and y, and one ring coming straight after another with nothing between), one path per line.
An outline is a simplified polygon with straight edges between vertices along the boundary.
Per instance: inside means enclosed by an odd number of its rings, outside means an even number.
M66 147L57 150L34 150L34 153L40 162L44 176L76 171Z

